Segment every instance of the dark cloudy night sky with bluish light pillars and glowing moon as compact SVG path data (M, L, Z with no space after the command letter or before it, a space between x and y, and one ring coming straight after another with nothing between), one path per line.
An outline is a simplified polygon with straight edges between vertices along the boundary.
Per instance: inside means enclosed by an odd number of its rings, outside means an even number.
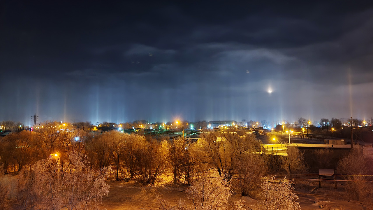
M181 2L1 1L0 121L373 117L373 3Z

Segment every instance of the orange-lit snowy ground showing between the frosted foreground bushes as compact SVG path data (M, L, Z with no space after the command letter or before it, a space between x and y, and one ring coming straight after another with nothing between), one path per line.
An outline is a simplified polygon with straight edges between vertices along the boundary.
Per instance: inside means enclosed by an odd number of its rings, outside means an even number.
M190 205L186 198L185 187L170 187L158 185L145 187L134 182L110 181L110 193L103 198L102 208L107 210L137 210L137 209L159 209L157 192L172 204L176 204L179 199ZM300 197L299 203L302 210L373 210L372 204L367 202L348 201L344 199L340 191L332 189L297 189L295 193ZM255 209L256 200L249 197L241 197L234 194L230 201L242 199L245 201L246 209Z

